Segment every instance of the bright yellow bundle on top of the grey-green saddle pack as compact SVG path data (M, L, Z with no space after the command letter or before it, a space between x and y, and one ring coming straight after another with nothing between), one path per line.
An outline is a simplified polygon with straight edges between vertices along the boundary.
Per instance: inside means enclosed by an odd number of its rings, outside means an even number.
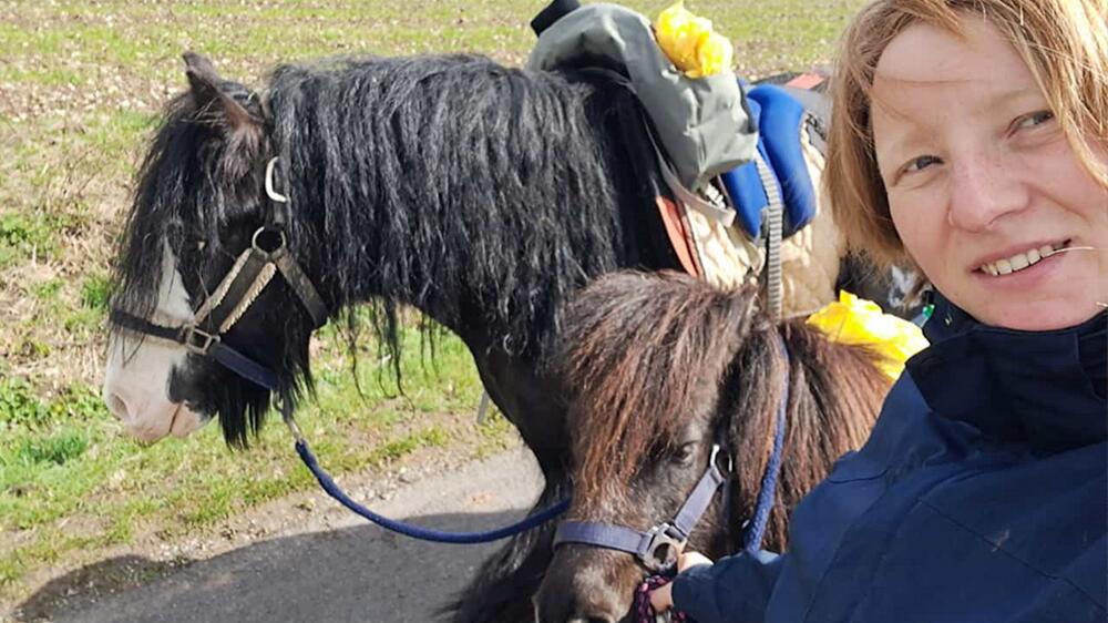
M712 31L711 20L689 12L684 0L658 14L654 32L661 51L689 78L711 75L731 67L731 42Z

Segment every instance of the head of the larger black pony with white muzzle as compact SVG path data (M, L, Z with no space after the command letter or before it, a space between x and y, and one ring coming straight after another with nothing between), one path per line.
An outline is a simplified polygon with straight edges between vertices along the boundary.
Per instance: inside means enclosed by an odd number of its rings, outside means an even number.
M280 215L259 98L203 57L185 63L189 88L152 141L121 243L103 395L142 440L218 416L246 443L271 390L291 399L310 382L314 319L274 262L295 265L285 241L306 232Z

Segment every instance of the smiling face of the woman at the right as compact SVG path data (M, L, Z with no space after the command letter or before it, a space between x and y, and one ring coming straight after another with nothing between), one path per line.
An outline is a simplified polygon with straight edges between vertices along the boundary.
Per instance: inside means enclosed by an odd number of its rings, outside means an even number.
M931 283L978 320L1079 324L1108 300L1108 191L1015 49L967 21L964 40L913 25L878 63L873 136L893 224Z

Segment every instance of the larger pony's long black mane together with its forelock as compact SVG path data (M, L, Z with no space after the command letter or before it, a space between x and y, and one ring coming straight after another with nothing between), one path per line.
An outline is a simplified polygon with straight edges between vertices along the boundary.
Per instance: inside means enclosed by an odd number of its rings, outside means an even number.
M153 309L163 239L218 252L220 228L260 210L242 187L205 191L205 176L259 171L269 155L294 253L334 307L377 297L393 355L407 304L455 330L491 327L485 346L541 361L572 290L617 257L658 253L627 234L640 225L618 202L649 208L657 172L637 100L607 79L430 55L283 65L260 96L223 88L264 121L246 145L261 153L213 149L218 120L187 92L167 105L116 268L116 304L135 314Z

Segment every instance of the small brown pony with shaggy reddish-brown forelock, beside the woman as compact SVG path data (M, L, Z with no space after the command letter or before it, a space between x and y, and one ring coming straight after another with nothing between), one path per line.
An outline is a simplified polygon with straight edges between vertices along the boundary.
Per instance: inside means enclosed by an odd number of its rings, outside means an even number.
M675 515L715 442L733 461L689 548L739 549L771 453L786 386L787 433L766 549L782 551L791 509L861 446L889 389L864 347L802 318L772 321L757 289L720 292L676 273L614 273L566 316L558 365L571 396L573 505L565 519L646 530ZM646 570L632 554L563 544L535 596L541 623L629 616Z

